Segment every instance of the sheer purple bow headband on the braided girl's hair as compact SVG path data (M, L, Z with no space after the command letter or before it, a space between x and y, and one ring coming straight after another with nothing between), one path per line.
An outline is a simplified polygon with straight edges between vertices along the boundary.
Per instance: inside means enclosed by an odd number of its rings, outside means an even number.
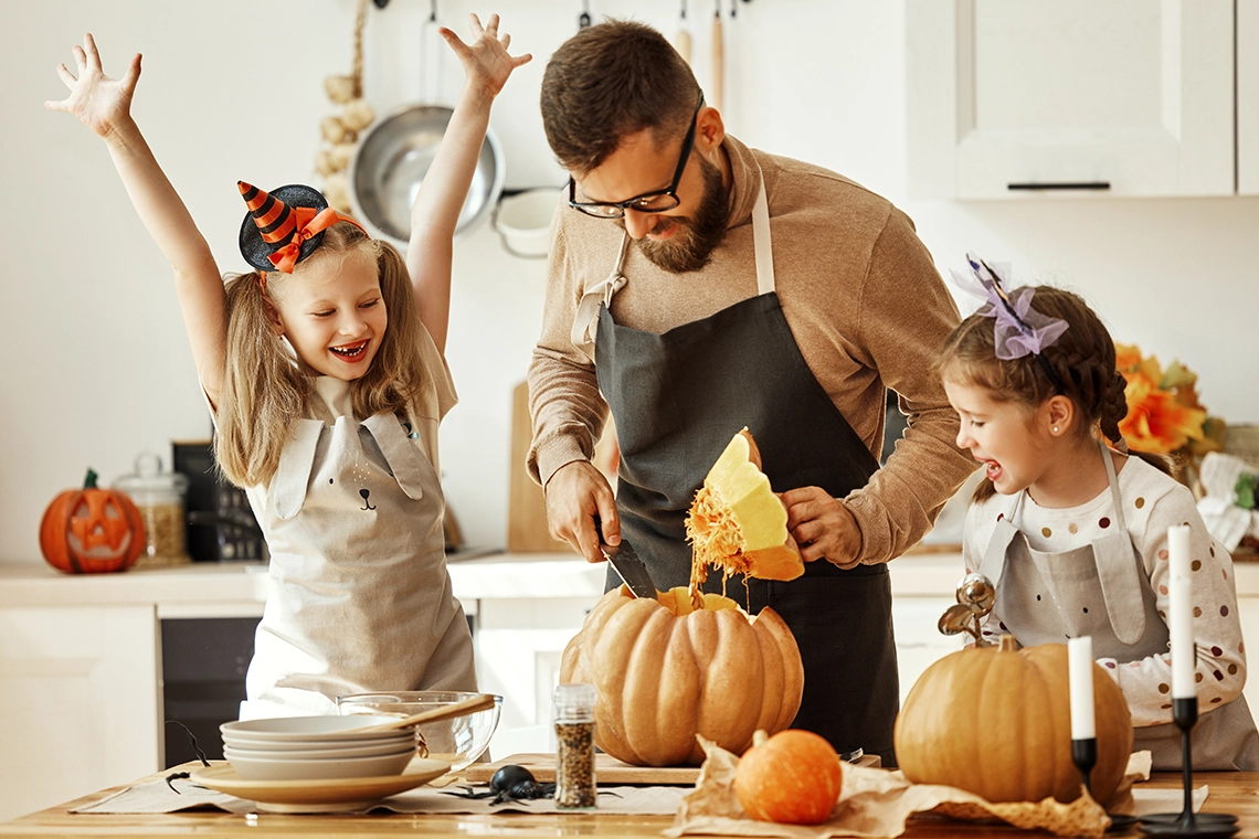
M1047 317L1031 307L1035 289L1024 286L1006 292L1003 283L1010 275L1007 264L990 265L972 253L966 254L966 260L971 264L969 277L954 269L949 269L949 273L958 288L986 301L976 314L995 318L993 335L998 358L1010 361L1039 356L1066 332L1066 321Z

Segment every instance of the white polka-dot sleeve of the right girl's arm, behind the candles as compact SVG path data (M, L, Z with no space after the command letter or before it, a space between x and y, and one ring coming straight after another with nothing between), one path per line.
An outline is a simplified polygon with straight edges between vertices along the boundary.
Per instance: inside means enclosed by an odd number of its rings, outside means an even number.
M1240 696L1246 681L1245 644L1238 615L1233 560L1224 546L1207 532L1187 489L1160 498L1149 513L1143 536L1136 540L1136 546L1149 575L1156 608L1165 623L1171 577L1167 528L1172 525L1190 526L1194 638L1197 647L1195 678L1199 709L1206 712ZM1136 662L1098 659L1098 663L1123 688L1133 726L1171 722L1171 653L1163 652Z

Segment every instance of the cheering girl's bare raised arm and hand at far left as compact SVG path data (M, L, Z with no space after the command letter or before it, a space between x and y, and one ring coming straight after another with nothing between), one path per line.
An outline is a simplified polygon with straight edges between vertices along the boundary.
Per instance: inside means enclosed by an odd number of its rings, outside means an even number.
M69 96L60 102L45 102L44 107L73 113L104 140L140 220L175 268L175 288L193 345L193 360L210 403L218 404L227 341L223 279L205 238L131 118L140 55L131 59L121 79L111 79L101 69L96 40L87 34L83 45L74 47L74 62L78 75L65 64L57 65Z

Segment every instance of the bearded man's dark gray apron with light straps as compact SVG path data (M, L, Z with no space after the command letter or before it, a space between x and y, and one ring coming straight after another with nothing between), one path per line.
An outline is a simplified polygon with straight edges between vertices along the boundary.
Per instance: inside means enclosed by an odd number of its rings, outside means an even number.
M842 498L879 468L805 364L783 317L763 181L752 218L759 296L663 335L618 326L608 303L627 282L626 236L612 275L589 288L578 307L574 343L594 343L599 390L617 428L621 532L658 589L687 584L686 511L744 425L776 492L818 486ZM608 577L609 587L619 584L611 569ZM798 580L748 584L745 594L731 581L730 596L753 613L773 606L799 645L805 697L793 725L821 733L836 750L860 747L894 766L900 693L888 567L842 571L820 560ZM709 580L705 587L720 591L723 584Z

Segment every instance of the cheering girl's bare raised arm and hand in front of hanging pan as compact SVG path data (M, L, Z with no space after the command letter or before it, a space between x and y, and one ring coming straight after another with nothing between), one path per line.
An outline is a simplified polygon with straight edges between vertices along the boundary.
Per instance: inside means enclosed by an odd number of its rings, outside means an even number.
M471 45L446 26L438 30L463 64L467 82L415 196L407 248L407 268L415 288L419 317L443 352L451 311L454 225L490 126L490 106L511 70L533 58L528 53L515 58L507 54L511 35L499 35L499 15L490 15L483 28L476 15L468 18L473 35Z

